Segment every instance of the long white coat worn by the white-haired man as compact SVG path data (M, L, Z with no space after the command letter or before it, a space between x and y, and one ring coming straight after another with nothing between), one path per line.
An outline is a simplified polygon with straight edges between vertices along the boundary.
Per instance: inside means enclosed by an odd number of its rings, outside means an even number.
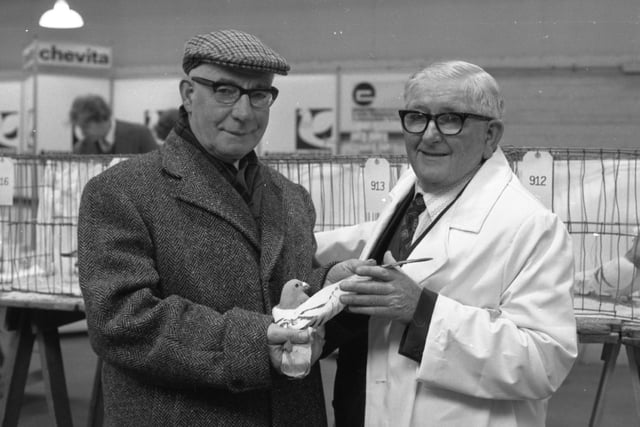
M412 170L399 179L377 222L319 234L319 255L363 248L367 259L415 180ZM418 257L433 260L402 270L439 294L422 363L398 354L404 324L371 318L366 425L544 426L577 355L564 225L498 149L409 255Z

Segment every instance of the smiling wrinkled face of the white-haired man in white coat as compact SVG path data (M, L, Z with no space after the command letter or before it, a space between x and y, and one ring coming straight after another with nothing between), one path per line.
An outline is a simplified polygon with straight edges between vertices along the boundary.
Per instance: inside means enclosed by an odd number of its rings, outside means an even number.
M406 109L427 114L475 113L467 105L459 82L423 83L406 100ZM467 118L462 131L445 136L433 120L422 135L404 132L409 162L426 191L438 191L457 183L493 154L502 136L502 122Z

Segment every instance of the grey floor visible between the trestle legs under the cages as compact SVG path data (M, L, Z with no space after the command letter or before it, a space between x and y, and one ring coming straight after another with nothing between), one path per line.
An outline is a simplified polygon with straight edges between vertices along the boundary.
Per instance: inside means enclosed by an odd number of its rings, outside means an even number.
M75 426L87 424L88 404L93 381L96 356L89 347L86 332L62 335L62 352L67 377L67 388L71 400L71 411ZM599 345L583 346L583 351L599 352ZM622 359L619 359L622 360ZM37 347L31 362L30 372L36 380L27 386L22 405L20 427L43 427L52 425L47 412L42 381L37 381L40 367ZM560 390L549 403L547 427L583 427L588 425L591 406L600 378L602 364L593 358L581 357ZM323 371L330 376L332 362L323 362ZM602 426L637 426L633 403L633 388L629 367L618 362L610 389L606 394L606 406ZM327 380L330 383L330 380ZM330 391L330 386L327 391Z

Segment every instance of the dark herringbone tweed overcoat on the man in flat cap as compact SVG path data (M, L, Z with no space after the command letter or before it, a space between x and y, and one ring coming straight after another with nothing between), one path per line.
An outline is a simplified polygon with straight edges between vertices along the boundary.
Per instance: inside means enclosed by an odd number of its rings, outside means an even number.
M260 164L261 216L194 146L159 150L85 187L80 286L103 358L106 424L325 426L318 365L271 368L266 331L282 285L315 290L315 211L307 191Z

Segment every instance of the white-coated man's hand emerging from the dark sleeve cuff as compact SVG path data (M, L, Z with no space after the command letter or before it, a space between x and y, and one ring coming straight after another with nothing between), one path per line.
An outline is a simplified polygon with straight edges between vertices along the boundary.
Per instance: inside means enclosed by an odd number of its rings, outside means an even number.
M385 255L385 263L394 261L390 254ZM411 322L422 293L416 282L399 268L361 265L355 273L360 277L340 284L341 290L353 292L340 297L348 311Z

